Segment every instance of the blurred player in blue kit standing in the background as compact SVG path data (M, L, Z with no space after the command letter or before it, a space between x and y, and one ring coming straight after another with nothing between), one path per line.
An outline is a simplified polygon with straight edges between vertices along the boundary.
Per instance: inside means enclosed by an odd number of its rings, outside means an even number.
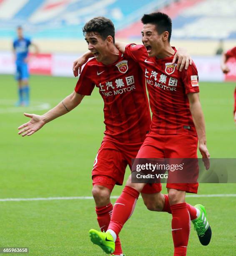
M13 42L13 52L15 56L16 64L16 80L18 80L18 95L19 100L15 106L28 106L29 105L29 46L32 45L35 48L35 54L38 53L38 46L33 44L30 39L23 36L23 28L18 26L17 28L18 38Z

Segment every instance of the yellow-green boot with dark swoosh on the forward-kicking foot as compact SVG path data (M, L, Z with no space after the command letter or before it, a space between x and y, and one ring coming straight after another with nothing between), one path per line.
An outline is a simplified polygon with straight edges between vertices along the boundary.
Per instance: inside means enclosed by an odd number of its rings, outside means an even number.
M105 253L111 254L115 251L115 242L109 232L105 233L90 229L89 236L91 242L100 246Z

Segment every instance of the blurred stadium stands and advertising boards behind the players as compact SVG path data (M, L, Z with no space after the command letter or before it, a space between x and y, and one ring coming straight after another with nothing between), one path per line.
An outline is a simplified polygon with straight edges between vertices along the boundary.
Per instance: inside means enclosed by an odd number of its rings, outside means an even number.
M40 47L31 73L72 76L71 62L87 50L86 21L104 15L113 20L117 40L140 43L140 17L155 10L172 18L172 45L186 47L194 56L200 79L223 81L214 55L219 40L224 50L236 45L234 0L0 0L0 72L14 72L11 42L18 25ZM232 75L235 79L235 65L227 78Z

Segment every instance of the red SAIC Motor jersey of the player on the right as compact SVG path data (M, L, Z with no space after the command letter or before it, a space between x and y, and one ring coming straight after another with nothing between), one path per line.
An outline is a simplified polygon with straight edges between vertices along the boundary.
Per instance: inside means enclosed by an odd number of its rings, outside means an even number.
M171 65L173 56L150 58L144 46L134 44L126 46L125 56L137 61L143 70L153 113L151 132L196 136L187 97L190 92L199 92L195 64L180 72L177 64Z

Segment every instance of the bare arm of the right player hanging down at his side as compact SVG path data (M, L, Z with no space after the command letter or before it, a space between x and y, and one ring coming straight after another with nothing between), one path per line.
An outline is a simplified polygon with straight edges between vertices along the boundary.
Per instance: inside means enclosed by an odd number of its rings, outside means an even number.
M193 123L195 125L197 134L198 134L198 148L201 152L204 164L206 169L208 170L210 167L210 154L208 152L208 149L206 147L206 129L205 129L205 121L204 116L201 108L201 103L199 99L199 93L193 92L188 93L188 100L189 100L189 106L190 111L193 117Z

